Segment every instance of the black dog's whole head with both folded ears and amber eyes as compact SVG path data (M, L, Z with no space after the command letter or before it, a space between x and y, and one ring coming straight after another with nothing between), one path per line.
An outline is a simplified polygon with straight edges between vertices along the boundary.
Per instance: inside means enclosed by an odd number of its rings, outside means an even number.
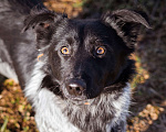
M146 19L129 10L106 13L98 20L71 20L51 11L33 12L25 28L37 33L37 48L45 56L46 81L69 99L97 97L112 85L127 81L128 61Z

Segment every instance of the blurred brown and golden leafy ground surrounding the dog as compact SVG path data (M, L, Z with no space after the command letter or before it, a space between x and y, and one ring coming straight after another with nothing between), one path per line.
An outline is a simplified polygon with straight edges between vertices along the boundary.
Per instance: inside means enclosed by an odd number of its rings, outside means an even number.
M127 132L166 132L166 0L44 0L69 18L92 18L116 9L142 9L153 30L142 30L132 82ZM31 106L19 84L0 76L0 132L38 132Z

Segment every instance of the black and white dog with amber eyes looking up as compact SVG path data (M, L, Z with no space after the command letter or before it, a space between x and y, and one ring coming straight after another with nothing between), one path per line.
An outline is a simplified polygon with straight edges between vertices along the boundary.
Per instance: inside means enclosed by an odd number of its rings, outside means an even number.
M39 131L125 132L128 56L146 19L117 10L72 20L43 6L30 13L38 1L0 1L0 73L20 82Z

